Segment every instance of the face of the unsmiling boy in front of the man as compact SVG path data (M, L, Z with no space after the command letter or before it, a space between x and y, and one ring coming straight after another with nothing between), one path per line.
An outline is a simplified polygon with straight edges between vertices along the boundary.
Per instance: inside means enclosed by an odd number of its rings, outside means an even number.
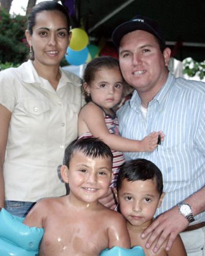
M118 192L120 211L132 226L147 226L152 221L156 208L160 206L156 182L123 180Z

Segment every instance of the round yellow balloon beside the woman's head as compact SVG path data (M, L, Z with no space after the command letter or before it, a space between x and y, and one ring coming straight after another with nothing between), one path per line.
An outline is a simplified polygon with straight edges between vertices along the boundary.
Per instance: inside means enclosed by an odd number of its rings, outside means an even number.
M88 34L81 28L71 29L72 37L69 47L74 51L83 50L89 42Z

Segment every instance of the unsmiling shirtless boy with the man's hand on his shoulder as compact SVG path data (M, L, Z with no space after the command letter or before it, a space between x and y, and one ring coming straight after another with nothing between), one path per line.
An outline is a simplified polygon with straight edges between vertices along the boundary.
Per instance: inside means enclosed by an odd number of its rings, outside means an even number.
M119 208L127 220L131 246L141 246L146 256L187 255L179 235L169 251L165 249L166 241L157 253L152 251L155 243L147 249L140 237L142 231L152 223L156 208L160 207L165 196L162 174L155 164L145 159L128 161L120 169L117 190Z

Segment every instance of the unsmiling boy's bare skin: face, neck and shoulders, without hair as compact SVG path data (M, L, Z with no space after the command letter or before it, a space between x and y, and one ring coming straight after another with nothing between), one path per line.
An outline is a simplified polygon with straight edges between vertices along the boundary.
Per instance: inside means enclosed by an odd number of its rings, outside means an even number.
M155 180L128 181L123 180L118 191L120 211L127 220L130 234L131 246L141 246L146 256L185 256L185 247L178 235L170 251L166 251L167 240L163 243L157 253L153 252L155 243L151 248L145 247L146 240L141 238L141 233L149 227L153 221L156 208L160 207L165 193L159 196Z

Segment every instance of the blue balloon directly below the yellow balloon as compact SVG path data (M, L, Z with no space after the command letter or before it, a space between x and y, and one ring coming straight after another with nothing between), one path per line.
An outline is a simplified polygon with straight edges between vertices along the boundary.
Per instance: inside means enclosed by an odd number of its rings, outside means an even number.
M70 47L67 49L68 56L66 57L66 61L74 66L79 66L84 64L88 58L88 47L85 47L83 50L74 51Z

